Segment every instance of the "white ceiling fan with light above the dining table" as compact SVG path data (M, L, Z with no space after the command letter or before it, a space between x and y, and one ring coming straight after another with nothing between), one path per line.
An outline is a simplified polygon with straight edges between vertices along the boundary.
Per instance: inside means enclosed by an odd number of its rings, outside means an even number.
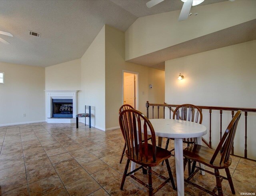
M146 3L146 6L148 8L152 8L153 6L161 3L164 0L150 0L149 2ZM199 5L200 3L204 2L204 0L181 0L182 2L184 2L181 12L180 12L180 16L179 16L179 21L181 20L186 20L188 18L190 14L190 9L192 6L196 6ZM234 0L230 0L230 1L234 1ZM196 15L196 14L195 14Z

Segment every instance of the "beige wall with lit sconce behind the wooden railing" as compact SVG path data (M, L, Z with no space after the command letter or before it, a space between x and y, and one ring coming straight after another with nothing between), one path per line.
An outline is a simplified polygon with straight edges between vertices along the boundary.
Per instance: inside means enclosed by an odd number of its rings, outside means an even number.
M170 104L191 103L203 106L256 108L256 40L208 52L166 61L165 100ZM178 80L179 73L184 80ZM230 122L231 112L223 112L222 132ZM212 114L214 146L220 134L220 114ZM209 113L204 112L207 127ZM256 158L256 114L248 114L248 156ZM209 140L208 134L205 136ZM244 114L235 137L235 152L244 153Z

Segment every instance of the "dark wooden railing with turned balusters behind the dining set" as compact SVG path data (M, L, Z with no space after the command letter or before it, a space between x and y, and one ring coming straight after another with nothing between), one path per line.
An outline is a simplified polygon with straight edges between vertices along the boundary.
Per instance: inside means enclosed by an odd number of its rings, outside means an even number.
M174 110L172 108L176 108L177 104L152 104L149 103L148 101L146 102L146 108L147 108L147 117L148 117L148 109L149 107L152 106L152 110L153 110L153 118L154 118L154 106L156 106L158 108L158 118L159 118L159 107L163 107L164 110L164 115L165 115L165 107L169 108L170 110L170 118L171 118L171 112L174 112ZM245 118L245 137L244 137L244 158L247 158L247 116L248 116L248 112L256 112L256 108L236 108L236 107L219 107L219 106L197 106L198 108L200 108L201 110L209 110L209 114L210 114L210 127L209 127L209 142L206 142L206 140L204 140L202 138L202 141L204 142L204 144L206 144L206 146L208 146L209 148L212 148L212 110L219 110L220 111L220 138L222 137L222 112L223 111L231 111L231 115L232 118L234 117L234 111L238 111L238 110L242 110L244 112L244 118ZM164 116L165 118L165 116ZM236 156L234 154L234 145L232 147L232 155ZM239 156L241 157L241 156ZM248 158L247 158L248 159ZM252 159L250 159L252 160Z

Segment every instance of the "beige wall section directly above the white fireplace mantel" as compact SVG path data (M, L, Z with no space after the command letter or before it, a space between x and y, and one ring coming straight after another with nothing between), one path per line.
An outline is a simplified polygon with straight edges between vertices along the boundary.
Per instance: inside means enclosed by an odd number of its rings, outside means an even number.
M45 68L45 90L80 90L81 59Z

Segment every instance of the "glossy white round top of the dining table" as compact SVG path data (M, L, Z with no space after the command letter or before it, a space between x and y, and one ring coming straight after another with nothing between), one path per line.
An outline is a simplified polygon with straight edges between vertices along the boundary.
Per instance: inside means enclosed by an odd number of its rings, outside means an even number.
M199 123L173 120L173 119L150 119L156 136L166 138L196 138L207 133L207 128ZM148 129L148 134L151 135Z

